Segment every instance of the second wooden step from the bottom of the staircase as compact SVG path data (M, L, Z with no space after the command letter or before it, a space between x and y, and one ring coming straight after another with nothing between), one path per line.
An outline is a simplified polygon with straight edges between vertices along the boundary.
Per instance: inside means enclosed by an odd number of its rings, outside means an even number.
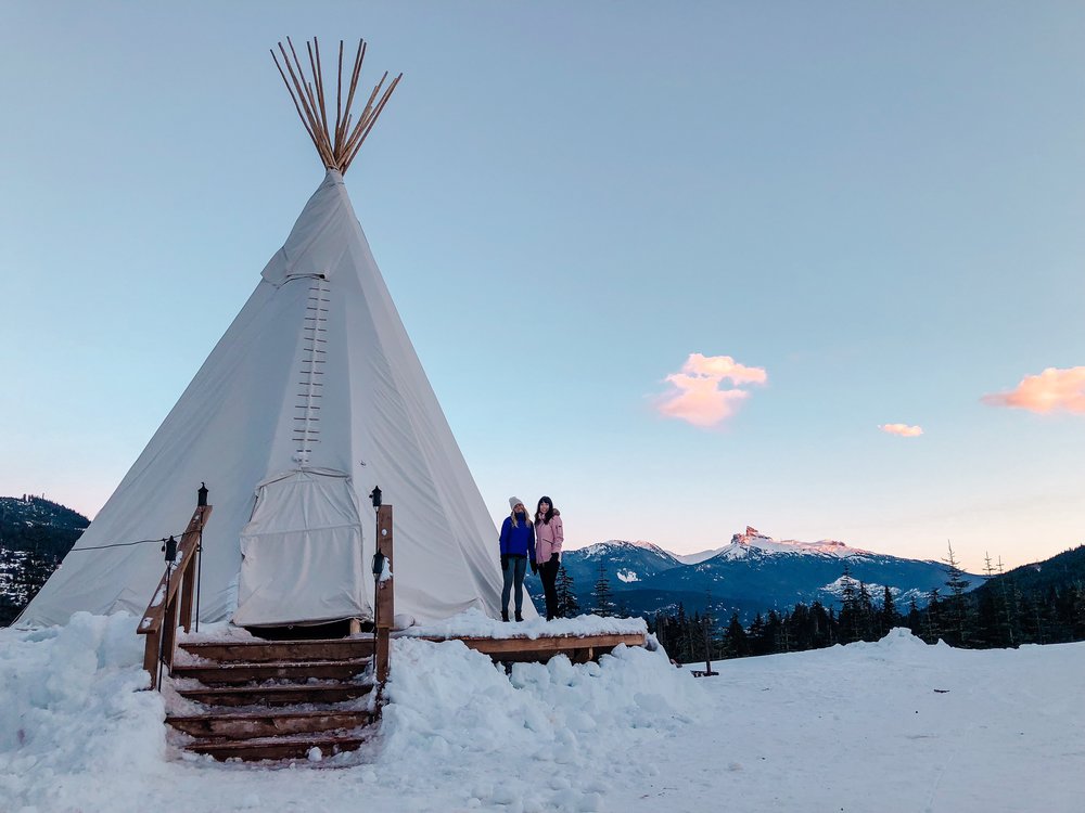
M166 722L186 734L203 738L252 739L283 734L346 731L367 725L366 710L341 711L214 711L205 714L169 715Z

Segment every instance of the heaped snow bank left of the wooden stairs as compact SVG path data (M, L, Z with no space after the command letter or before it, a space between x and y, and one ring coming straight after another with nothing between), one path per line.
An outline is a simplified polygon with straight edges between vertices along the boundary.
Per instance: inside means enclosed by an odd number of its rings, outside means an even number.
M165 750L164 710L126 614L0 631L0 810L135 809L128 783Z

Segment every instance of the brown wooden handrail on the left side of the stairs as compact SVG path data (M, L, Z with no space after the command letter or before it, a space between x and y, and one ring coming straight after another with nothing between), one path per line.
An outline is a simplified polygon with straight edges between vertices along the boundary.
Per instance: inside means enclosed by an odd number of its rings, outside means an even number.
M136 632L145 635L143 669L151 675L151 688L158 685L159 668L164 666L168 674L174 667L177 649L177 627L188 632L192 627L193 598L196 589L196 560L200 542L210 505L196 506L189 527L177 545L177 557L166 566L158 586L154 591L146 612Z

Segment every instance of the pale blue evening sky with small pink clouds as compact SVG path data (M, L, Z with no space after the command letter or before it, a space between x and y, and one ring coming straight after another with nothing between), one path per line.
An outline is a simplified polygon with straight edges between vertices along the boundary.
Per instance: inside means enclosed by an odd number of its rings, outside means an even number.
M495 518L978 571L1085 542L1085 5L0 4L0 494L93 516L347 175Z

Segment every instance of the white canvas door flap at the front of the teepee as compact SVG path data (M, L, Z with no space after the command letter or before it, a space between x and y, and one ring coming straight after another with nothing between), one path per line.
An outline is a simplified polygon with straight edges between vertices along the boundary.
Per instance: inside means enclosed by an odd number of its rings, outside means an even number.
M240 627L372 618L361 517L350 478L299 469L256 488L241 532Z

